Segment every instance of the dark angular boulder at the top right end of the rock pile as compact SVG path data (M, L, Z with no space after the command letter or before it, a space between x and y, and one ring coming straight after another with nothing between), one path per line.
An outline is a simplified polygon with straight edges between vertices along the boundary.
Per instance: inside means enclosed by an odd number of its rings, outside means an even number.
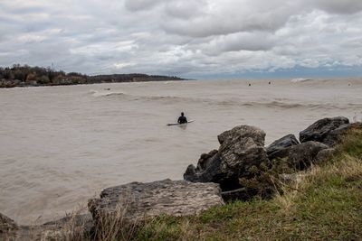
M338 129L348 128L348 124L349 120L344 116L320 119L300 132L300 143L314 141L334 145L336 144ZM337 133L333 133L334 131Z

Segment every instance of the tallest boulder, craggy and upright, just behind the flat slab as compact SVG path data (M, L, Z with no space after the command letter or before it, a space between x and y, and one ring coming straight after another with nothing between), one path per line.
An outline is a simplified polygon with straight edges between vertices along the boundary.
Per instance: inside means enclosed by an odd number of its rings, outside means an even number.
M265 133L257 127L240 125L218 136L218 151L201 155L197 167L189 165L186 181L220 183L223 191L242 188L241 178L253 178L251 170L268 165Z

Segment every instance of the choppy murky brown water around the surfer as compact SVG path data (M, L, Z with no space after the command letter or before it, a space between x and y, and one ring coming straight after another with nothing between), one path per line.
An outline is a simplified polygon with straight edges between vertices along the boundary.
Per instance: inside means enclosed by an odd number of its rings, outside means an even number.
M42 223L113 185L182 179L235 125L270 144L321 117L362 116L361 79L297 80L0 89L0 212ZM167 127L181 111L195 123Z

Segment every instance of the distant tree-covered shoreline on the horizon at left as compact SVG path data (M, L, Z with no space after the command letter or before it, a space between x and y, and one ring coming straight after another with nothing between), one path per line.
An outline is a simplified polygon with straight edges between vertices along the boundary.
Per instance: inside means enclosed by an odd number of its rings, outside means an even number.
M162 80L184 79L176 76L137 73L88 76L77 72L65 73L62 70L53 70L51 67L31 67L20 64L14 64L13 67L0 67L0 88Z

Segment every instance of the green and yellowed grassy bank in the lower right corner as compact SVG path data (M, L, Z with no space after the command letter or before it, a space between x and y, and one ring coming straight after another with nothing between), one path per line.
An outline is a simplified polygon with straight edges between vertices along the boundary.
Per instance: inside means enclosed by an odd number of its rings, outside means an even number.
M353 130L335 156L303 173L270 200L236 201L200 216L160 217L139 240L361 240L362 131Z

